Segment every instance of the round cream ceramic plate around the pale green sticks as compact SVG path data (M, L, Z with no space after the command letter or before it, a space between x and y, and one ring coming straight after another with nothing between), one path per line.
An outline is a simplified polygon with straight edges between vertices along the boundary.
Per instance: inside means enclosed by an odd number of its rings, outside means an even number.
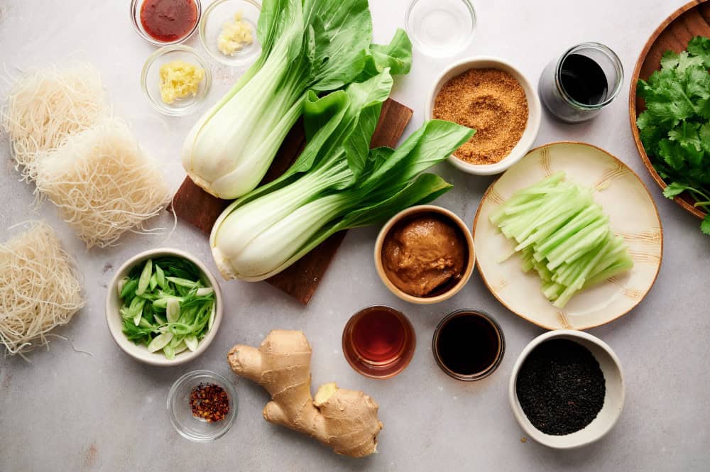
M634 267L575 295L564 309L552 306L540 291L540 278L520 270L513 243L488 220L513 193L558 171L595 190L614 233L630 246ZM628 313L648 294L660 270L663 231L648 189L633 170L605 150L584 143L551 143L535 148L513 165L481 200L474 221L476 264L493 295L511 312L546 329L589 329Z

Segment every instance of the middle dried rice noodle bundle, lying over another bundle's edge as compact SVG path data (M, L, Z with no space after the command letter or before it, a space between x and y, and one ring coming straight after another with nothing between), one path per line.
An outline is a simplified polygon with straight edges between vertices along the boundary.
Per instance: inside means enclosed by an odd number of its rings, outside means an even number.
M170 200L158 166L143 154L129 127L106 119L40 155L37 190L92 246L110 246L125 231L156 216Z

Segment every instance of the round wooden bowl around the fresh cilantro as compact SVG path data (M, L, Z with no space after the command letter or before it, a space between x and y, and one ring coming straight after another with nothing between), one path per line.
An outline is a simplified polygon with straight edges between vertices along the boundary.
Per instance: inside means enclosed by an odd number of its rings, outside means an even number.
M628 96L633 139L648 172L662 189L667 187L667 183L653 168L653 164L643 148L638 127L636 126L637 116L646 109L643 99L636 97L636 83L638 79L648 79L653 72L660 69L661 56L665 51L672 50L679 53L685 50L689 40L697 35L710 37L710 1L693 0L666 18L648 39L643 51L641 51L641 55L638 57L638 62L636 62L636 67L631 77L631 89ZM694 200L689 194L679 195L675 198L675 202L695 216L704 218L705 212L693 206Z

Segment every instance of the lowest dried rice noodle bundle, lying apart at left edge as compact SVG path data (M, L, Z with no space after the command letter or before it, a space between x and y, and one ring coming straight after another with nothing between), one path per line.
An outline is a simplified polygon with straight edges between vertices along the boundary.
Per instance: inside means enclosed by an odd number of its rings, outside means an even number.
M84 306L75 263L44 222L0 243L0 268L0 344L10 355L48 344Z

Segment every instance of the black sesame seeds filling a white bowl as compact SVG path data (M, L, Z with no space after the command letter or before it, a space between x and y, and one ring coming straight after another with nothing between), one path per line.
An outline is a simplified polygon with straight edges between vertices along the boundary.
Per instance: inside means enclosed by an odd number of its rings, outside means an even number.
M533 426L562 436L584 429L604 405L606 383L589 349L567 339L546 341L532 350L516 380L515 392Z

